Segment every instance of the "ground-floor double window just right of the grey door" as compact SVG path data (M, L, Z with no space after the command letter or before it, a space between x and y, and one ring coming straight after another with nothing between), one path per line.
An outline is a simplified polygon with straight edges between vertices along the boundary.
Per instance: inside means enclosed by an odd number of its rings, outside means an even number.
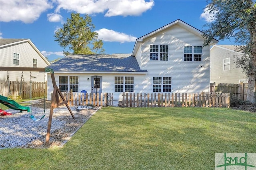
M133 92L134 77L115 77L115 92Z

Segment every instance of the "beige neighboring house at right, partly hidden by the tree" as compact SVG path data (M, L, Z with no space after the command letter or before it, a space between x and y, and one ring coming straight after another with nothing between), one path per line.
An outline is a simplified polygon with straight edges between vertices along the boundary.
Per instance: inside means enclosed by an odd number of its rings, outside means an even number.
M236 67L236 57L244 53L234 51L234 45L213 45L211 47L211 83L248 82L241 68Z

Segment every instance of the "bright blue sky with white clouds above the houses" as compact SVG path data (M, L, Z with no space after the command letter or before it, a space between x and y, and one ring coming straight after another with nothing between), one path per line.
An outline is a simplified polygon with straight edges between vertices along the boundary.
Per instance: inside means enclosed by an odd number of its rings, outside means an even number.
M0 38L30 39L50 61L64 57L54 33L74 12L92 18L105 54L132 53L137 38L178 19L206 29L206 6L206 0L0 0Z

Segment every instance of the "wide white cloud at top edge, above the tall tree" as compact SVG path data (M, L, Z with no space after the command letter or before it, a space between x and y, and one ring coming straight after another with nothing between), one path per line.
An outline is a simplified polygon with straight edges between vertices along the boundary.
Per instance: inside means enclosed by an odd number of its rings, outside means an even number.
M80 14L104 13L105 16L138 16L150 10L154 1L150 0L57 0L58 6L55 12L60 9L75 11Z

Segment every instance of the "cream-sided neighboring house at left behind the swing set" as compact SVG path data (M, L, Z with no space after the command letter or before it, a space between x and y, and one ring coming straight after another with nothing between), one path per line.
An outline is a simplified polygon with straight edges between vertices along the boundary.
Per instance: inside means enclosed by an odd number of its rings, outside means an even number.
M46 67L47 59L30 39L0 39L0 67ZM22 71L8 71L10 81L21 81ZM30 72L23 72L30 81ZM0 71L0 80L7 80L7 71ZM44 82L44 73L32 72L32 81Z

